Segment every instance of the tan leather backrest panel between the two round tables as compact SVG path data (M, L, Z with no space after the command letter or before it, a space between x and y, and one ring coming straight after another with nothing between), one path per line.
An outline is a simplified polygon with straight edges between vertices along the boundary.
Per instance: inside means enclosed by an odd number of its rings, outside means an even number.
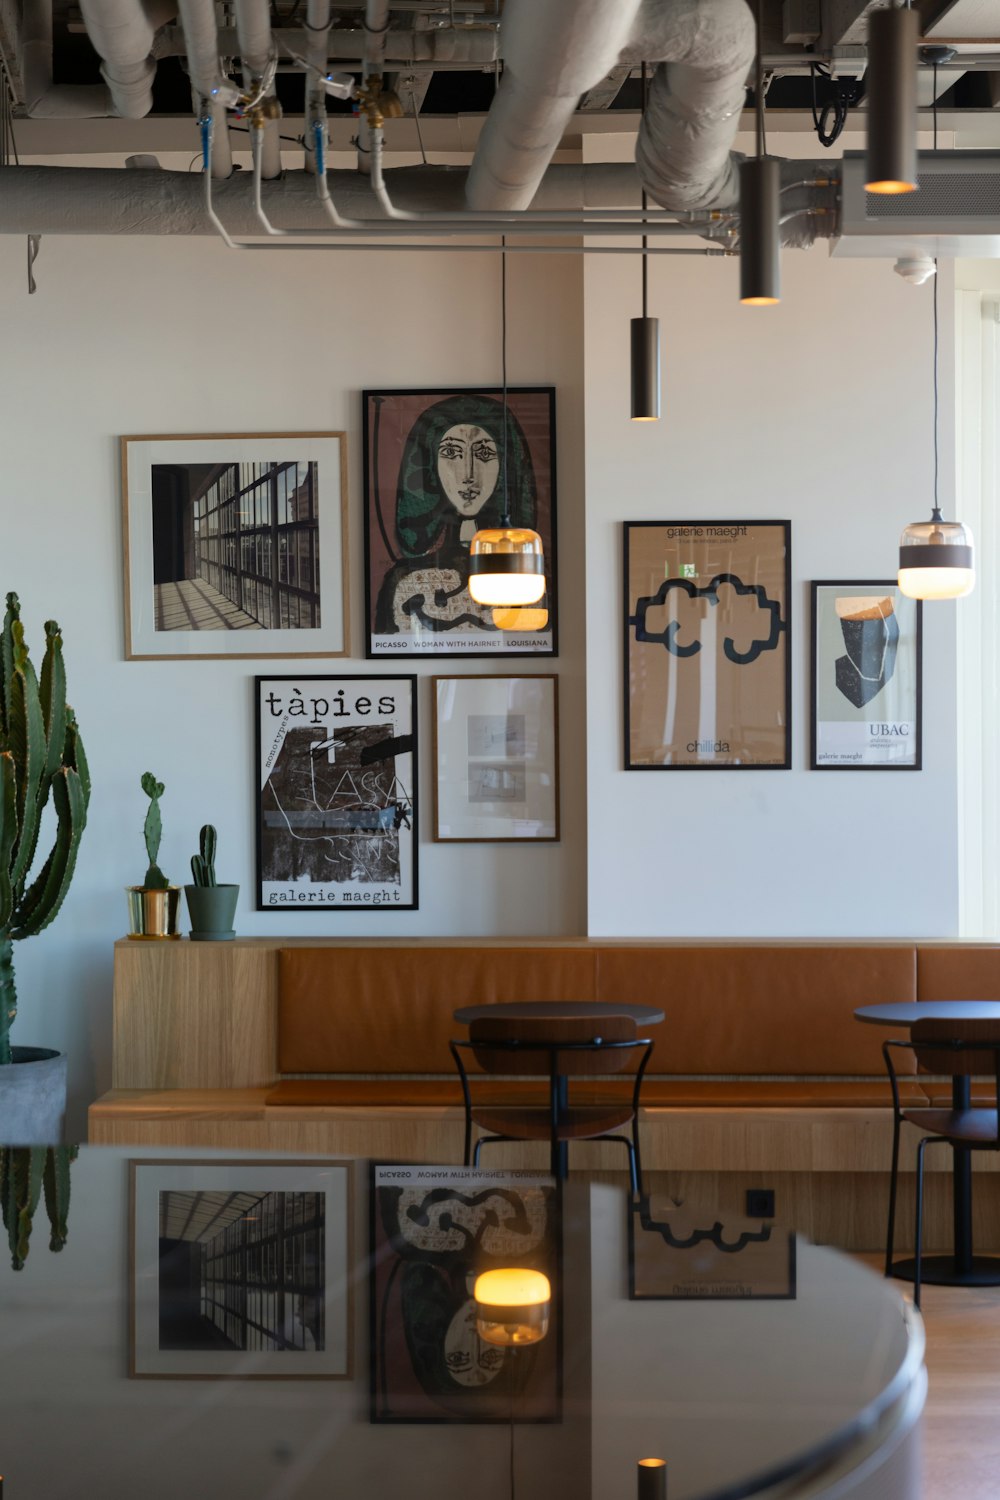
M657 1072L885 1072L888 1032L859 1005L916 999L913 944L607 946L598 1000L661 1005Z

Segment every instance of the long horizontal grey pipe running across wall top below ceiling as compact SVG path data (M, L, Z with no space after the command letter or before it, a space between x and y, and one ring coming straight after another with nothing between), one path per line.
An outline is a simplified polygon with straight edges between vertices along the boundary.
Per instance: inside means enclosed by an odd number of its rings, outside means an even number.
M840 164L789 162L786 170L795 174L789 183L807 184L813 178L826 178L829 198L835 195ZM237 172L226 182L217 182L214 202L231 234L253 236L259 222L253 208L253 194L246 172ZM454 222L462 219L465 198L465 176L453 166L400 166L387 177L391 183L393 202L408 212L451 213ZM400 232L432 240L438 230L430 225L400 225L387 222L366 177L354 171L328 174L330 189L345 216L370 220L372 236L385 234L387 243L396 243ZM808 189L802 188L799 192ZM793 194L786 194L793 198ZM286 172L282 183L264 184L264 202L268 218L279 228L328 230L330 218L316 195L316 178L307 172ZM594 165L556 165L546 172L538 190L535 207L553 213L570 213L585 208L634 207L639 202L636 170L628 162L601 162ZM799 208L798 201L789 204L789 213ZM796 214L789 222L790 230L801 232L807 219ZM511 225L502 225L510 230ZM514 225L520 232L534 232L535 220ZM549 226L552 228L552 226ZM496 230L496 226L495 226ZM571 218L559 222L561 232L600 236L601 230L591 220L580 219L576 226ZM93 166L3 166L0 168L0 234L213 234L204 212L204 183L196 172L169 171L108 171ZM441 225L441 232L450 231ZM463 226L469 236L490 232L480 220ZM634 232L634 226L633 226ZM675 231L676 232L676 231ZM691 232L699 232L691 230ZM829 237L837 232L837 219L825 213L817 220L817 232ZM628 240L622 237L622 243ZM805 243L799 238L798 243ZM429 246L430 248L430 246Z

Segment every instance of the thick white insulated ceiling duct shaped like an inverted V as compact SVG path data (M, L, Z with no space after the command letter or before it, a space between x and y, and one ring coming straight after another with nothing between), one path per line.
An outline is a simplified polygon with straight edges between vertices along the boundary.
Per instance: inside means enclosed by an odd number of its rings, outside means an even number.
M636 153L649 196L678 212L736 206L732 142L756 51L745 0L507 0L501 44L471 208L526 208L579 96L640 62L658 64Z

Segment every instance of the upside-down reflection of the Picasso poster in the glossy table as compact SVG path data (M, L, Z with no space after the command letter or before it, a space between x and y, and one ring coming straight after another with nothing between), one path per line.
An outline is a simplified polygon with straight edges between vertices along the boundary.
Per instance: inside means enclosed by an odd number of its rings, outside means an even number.
M529 1172L373 1167L372 1420L519 1422L559 1416L559 1304L540 1344L475 1332L483 1270L529 1266L559 1287L556 1190Z

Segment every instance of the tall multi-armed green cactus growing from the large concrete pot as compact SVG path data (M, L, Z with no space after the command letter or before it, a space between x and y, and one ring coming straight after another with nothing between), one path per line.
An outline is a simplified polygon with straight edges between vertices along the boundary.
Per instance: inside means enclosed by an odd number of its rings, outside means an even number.
M52 846L34 879L42 813L52 795ZM76 867L87 822L90 771L66 704L63 638L45 621L40 681L28 658L16 594L7 594L0 632L0 1064L10 1062L18 1000L13 944L52 921Z

